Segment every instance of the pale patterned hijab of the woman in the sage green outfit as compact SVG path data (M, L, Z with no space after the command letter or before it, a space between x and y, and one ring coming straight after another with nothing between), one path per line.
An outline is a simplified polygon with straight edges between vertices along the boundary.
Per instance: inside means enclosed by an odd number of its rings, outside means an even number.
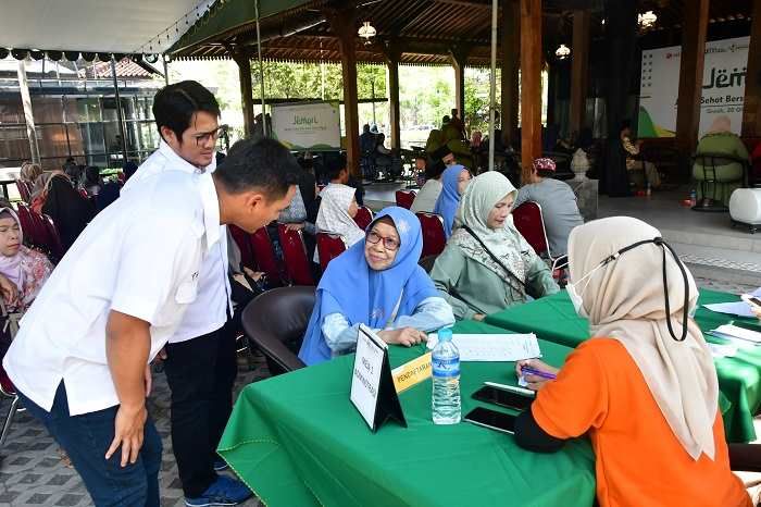
M517 190L510 183L510 180L496 171L489 171L473 178L462 195L456 231L450 242L459 246L465 256L494 271L509 285L513 287L520 285L523 293L525 292L523 283L526 281L526 265L521 255L520 233L512 224L511 218L508 219L506 226L499 230L486 225L495 205L508 195L515 198ZM473 237L463 225L473 231L481 242ZM499 259L499 262L495 261L492 256ZM506 268L512 274L508 273ZM516 284L515 279L522 283Z

